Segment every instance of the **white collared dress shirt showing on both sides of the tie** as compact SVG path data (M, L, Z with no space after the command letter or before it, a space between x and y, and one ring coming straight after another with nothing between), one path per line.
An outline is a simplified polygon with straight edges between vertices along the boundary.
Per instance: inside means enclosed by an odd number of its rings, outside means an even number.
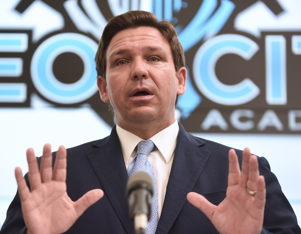
M129 164L136 156L136 146L140 141L143 141L143 139L129 131L124 130L118 125L116 125L116 131L121 144L126 169L128 169ZM175 146L177 144L178 132L179 125L178 122L175 121L172 125L150 138L150 140L152 140L157 146L157 148L155 148L147 156L147 159L151 163L156 176L159 218L165 198L166 186L175 153Z

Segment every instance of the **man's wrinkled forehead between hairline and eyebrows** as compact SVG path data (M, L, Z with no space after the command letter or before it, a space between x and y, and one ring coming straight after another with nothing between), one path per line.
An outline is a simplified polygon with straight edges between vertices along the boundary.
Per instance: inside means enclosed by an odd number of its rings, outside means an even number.
M170 52L170 46L166 38L159 30L152 27L129 28L116 33L107 48L107 56L117 53L120 50L134 50L155 48Z

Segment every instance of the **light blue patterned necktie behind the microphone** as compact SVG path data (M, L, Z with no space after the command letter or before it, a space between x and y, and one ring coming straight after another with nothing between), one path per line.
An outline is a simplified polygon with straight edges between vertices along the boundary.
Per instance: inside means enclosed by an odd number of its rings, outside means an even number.
M151 209L151 219L148 220L147 227L145 229L146 233L155 233L158 225L159 215L158 215L158 199L157 199L157 183L154 170L147 160L147 156L155 148L155 144L151 140L140 141L137 145L136 157L132 160L128 169L129 178L136 172L146 172L151 176L153 181L153 197L152 197L152 209Z

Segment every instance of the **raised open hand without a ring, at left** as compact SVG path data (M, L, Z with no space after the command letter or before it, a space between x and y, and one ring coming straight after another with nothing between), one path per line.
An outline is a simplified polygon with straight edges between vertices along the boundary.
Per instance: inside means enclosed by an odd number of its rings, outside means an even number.
M40 165L32 148L26 152L30 191L19 167L15 170L22 213L27 233L62 233L67 231L84 211L103 196L93 189L73 202L66 191L67 152L59 147L52 170L51 146L46 144Z

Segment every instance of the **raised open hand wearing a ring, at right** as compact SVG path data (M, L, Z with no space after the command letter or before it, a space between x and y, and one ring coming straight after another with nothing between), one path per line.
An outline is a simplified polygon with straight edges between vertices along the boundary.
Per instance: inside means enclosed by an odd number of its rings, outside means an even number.
M240 171L235 150L229 151L229 175L226 198L218 206L202 195L191 192L188 201L211 220L220 234L259 234L265 207L265 180L259 176L258 160L244 149Z

